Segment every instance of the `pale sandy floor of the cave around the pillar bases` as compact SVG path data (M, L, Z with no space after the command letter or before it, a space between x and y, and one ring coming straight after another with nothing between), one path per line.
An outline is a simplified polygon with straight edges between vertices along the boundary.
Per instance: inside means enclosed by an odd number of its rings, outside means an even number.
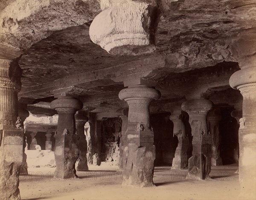
M55 168L29 168L31 175L20 176L22 200L81 200L81 199L183 199L236 200L239 194L237 165L212 167L212 180L186 180L186 170L156 167L154 188L132 188L122 185L122 174L116 167L102 163L89 166L88 172L78 171L79 179L54 180Z

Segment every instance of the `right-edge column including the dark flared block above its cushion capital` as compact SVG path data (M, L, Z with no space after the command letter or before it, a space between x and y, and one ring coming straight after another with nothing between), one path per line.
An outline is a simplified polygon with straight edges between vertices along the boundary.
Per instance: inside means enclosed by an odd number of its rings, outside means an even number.
M230 77L230 86L243 96L243 116L239 120L240 197L256 197L256 29L239 33L230 44L241 70Z

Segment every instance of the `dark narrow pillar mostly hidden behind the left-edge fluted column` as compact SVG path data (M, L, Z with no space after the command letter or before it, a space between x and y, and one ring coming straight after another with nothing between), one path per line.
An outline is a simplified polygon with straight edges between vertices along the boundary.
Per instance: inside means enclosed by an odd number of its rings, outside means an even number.
M20 105L19 105L20 106ZM25 119L29 116L29 111L26 109L22 108L21 106L19 107L18 115L20 117L20 124L23 127L24 130L24 121ZM28 174L28 165L26 162L26 154L25 154L25 148L26 148L26 134L23 131L23 165L21 165L20 168L20 174Z

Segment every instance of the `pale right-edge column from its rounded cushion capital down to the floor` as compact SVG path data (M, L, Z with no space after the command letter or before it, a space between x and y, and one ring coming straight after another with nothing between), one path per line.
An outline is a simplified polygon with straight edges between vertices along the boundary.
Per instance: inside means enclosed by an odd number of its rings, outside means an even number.
M230 86L243 96L239 120L239 181L241 197L256 195L256 67L243 68L230 77Z

